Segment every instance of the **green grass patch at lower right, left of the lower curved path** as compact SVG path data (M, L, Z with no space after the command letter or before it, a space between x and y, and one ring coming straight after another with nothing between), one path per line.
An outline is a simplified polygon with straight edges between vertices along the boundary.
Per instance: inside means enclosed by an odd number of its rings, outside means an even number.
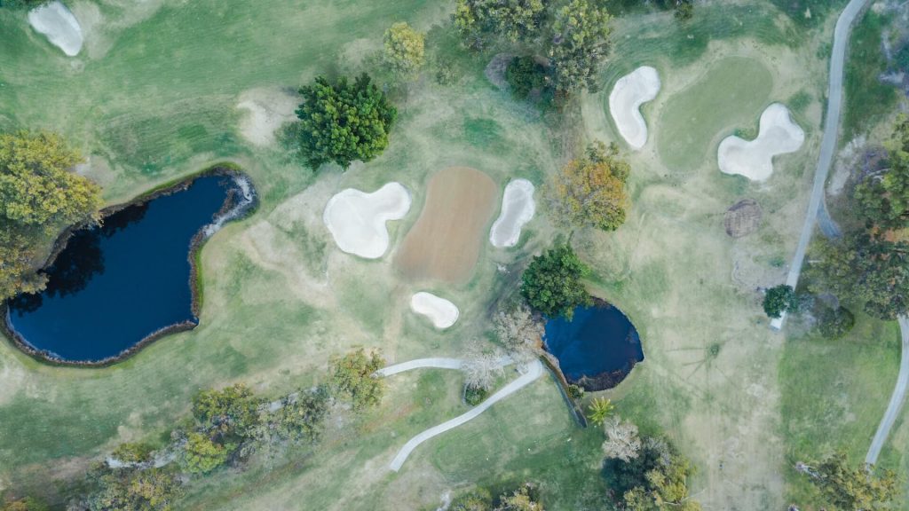
M804 476L795 473L794 464L822 459L834 450L862 463L890 399L899 369L899 328L863 314L856 314L856 320L842 339L812 335L786 341L779 377L787 496L793 502L823 504ZM891 452L889 447L884 446L884 454ZM900 467L893 458L882 461Z

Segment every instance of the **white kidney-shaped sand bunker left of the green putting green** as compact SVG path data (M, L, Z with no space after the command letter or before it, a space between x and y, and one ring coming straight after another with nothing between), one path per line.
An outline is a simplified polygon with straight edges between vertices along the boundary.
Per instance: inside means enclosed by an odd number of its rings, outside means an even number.
M638 67L615 82L609 95L609 113L628 145L640 149L647 143L647 123L641 105L660 92L660 75L649 65Z

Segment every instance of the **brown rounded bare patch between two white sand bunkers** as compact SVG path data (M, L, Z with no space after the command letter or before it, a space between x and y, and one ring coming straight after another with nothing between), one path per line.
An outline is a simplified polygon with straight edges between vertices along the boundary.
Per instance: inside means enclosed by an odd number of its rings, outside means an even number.
M423 213L407 233L395 264L413 280L464 283L474 273L497 192L488 175L472 168L455 166L435 174Z

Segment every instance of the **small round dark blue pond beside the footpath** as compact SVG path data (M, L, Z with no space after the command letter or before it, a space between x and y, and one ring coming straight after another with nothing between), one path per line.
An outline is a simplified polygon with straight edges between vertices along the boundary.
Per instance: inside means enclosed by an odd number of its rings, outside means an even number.
M644 360L641 339L631 321L606 304L578 307L571 321L548 320L544 340L568 381L587 390L618 385L635 363Z

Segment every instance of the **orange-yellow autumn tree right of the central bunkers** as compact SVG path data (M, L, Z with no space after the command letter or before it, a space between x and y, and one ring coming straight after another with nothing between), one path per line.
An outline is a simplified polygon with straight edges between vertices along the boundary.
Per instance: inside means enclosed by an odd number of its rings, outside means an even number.
M607 148L596 142L587 147L584 156L553 175L544 197L557 225L614 231L624 224L628 207L625 182L631 166L618 154L617 145Z

